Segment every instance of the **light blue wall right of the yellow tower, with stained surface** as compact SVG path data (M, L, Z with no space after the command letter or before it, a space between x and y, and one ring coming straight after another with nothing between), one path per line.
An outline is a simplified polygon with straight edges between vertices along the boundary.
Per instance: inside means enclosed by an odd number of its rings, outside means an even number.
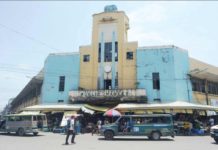
M158 98L162 103L192 99L186 76L189 71L187 51L174 46L138 48L136 61L138 88L146 90L148 103L155 103L154 99ZM153 89L154 72L159 73L160 90Z

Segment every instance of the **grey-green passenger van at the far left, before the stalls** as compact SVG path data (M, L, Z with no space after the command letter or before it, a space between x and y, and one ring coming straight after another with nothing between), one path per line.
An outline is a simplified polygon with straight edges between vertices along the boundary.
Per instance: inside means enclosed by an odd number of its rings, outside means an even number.
M11 133L15 132L19 136L26 133L37 135L39 129L47 128L45 114L10 114L4 116L0 124L0 131Z

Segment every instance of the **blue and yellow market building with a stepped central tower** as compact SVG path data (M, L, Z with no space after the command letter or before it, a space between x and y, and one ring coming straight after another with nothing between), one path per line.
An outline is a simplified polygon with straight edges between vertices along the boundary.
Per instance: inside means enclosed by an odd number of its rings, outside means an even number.
M128 16L114 5L94 14L91 44L76 53L50 54L36 94L39 100L31 104L63 105L59 111L65 111L64 105L100 110L121 103L176 101L218 106L217 67L190 58L187 50L174 45L138 47L128 41L129 29ZM17 111L20 96L12 106Z

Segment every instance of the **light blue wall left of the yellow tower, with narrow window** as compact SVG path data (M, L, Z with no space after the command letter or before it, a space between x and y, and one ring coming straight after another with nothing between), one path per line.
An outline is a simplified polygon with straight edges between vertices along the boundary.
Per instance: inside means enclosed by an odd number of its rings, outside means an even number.
M79 54L50 54L44 64L44 81L42 85L42 104L69 103L69 91L79 87ZM59 91L59 78L65 76L64 91Z

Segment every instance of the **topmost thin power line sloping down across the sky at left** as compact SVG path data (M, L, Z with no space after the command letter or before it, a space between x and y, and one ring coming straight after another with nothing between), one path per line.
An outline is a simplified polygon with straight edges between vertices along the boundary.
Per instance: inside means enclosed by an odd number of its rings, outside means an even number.
M25 33L22 33L22 32L20 32L20 31L18 31L18 30L15 30L15 29L13 29L13 28L11 28L11 27L8 27L8 26L6 26L6 25L4 25L4 24L2 24L2 23L0 23L0 26L1 26L2 28L5 28L5 29L7 29L7 30L13 32L13 33L16 33L16 34L18 34L18 35L20 35L20 36L23 36L23 37L25 37L26 39L31 40L31 41L33 41L33 42L35 42L35 43L38 43L38 44L43 45L43 46L45 46L45 47L48 47L48 48L50 48L50 49L59 51L59 49L54 48L53 46L50 46L50 45L48 45L47 43L45 43L45 42L43 42L43 41L41 41L41 40L38 40L38 39L36 39L36 38L34 38L34 37L32 37L32 36L29 36L29 35L27 35L27 34L25 34Z

